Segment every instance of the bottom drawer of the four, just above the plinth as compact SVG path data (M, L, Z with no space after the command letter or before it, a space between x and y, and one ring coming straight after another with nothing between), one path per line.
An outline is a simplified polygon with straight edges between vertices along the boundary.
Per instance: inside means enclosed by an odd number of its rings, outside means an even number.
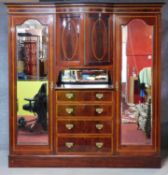
M58 152L91 153L111 152L111 138L61 138L58 137Z

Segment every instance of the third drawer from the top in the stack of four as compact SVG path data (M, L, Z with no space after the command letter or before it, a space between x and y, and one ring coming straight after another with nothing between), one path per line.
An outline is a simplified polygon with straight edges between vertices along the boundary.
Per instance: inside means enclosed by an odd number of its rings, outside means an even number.
M112 121L58 121L58 133L111 133Z

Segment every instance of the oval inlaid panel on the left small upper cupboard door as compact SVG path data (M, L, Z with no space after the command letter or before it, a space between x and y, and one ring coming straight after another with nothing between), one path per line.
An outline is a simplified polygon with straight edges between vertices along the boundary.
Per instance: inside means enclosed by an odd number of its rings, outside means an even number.
M63 27L61 43L64 59L73 59L78 49L78 34L73 20L67 21Z

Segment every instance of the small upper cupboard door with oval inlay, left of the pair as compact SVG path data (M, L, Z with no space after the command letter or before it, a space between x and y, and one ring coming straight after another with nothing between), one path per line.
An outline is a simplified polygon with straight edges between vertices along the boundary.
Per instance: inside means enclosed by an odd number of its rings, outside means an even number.
M62 66L80 65L83 60L83 15L58 14L56 62Z

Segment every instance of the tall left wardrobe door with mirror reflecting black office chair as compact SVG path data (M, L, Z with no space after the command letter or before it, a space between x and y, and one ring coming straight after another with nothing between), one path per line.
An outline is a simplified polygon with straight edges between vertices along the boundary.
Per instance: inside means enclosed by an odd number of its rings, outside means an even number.
M53 51L50 49L53 16L13 16L11 29L12 151L49 153L52 150L52 89L49 85L53 79Z

